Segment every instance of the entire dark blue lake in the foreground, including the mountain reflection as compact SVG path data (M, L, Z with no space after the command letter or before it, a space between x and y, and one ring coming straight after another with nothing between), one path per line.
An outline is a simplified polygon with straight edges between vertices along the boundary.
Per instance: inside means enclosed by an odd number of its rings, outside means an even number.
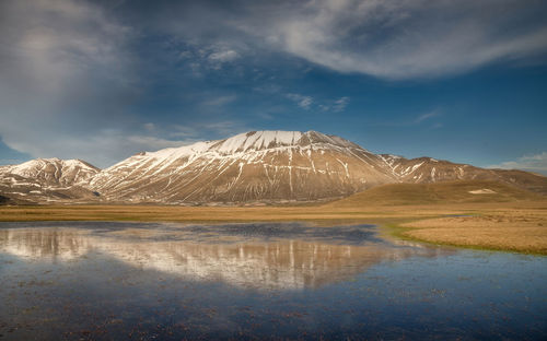
M547 339L547 257L371 225L1 223L0 340Z

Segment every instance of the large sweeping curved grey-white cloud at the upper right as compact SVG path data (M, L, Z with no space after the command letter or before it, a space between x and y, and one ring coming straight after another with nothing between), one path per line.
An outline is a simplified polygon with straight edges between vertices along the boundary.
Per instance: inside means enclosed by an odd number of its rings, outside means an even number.
M284 50L337 71L438 77L545 52L545 21L508 33L524 2L315 1L275 32Z

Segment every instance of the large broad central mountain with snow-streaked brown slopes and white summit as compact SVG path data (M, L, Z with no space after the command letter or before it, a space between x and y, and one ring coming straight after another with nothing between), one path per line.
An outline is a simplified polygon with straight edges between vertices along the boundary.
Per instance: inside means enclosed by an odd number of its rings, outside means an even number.
M345 139L252 131L133 155L90 186L108 200L191 203L311 201L393 181L381 156Z

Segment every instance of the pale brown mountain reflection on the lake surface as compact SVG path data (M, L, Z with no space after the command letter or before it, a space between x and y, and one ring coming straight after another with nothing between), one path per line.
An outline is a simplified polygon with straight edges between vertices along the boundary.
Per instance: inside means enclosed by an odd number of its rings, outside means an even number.
M351 279L381 261L447 252L377 242L368 225L331 230L299 224L289 230L283 224L158 225L150 230L98 223L97 227L104 230L47 225L0 230L0 251L42 262L102 254L142 270L257 289L317 287ZM310 233L312 240L300 239L307 228L315 232Z

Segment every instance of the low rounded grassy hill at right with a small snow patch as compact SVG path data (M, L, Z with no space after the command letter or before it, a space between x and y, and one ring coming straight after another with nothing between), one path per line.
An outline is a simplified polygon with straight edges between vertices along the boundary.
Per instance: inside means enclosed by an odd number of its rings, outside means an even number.
M546 197L488 180L459 180L437 184L388 184L377 186L328 207L398 205L458 202L508 202L545 200Z

